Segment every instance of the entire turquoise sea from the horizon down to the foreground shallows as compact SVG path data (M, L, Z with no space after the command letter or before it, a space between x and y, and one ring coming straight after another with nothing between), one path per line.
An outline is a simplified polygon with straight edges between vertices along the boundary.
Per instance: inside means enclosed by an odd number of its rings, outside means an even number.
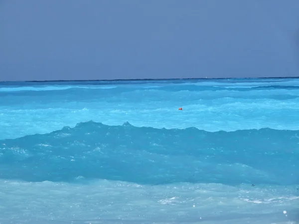
M297 224L299 79L0 82L8 223Z

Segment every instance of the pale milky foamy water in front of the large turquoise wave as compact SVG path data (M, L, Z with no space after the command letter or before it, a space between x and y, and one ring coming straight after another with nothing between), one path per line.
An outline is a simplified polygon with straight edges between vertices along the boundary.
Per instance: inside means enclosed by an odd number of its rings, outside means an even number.
M295 186L1 180L0 189L1 224L296 224L299 218Z

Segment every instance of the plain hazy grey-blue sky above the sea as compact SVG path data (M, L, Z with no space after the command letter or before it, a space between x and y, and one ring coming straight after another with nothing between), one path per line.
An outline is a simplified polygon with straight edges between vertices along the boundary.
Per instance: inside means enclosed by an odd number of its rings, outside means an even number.
M299 0L0 0L0 81L299 76Z

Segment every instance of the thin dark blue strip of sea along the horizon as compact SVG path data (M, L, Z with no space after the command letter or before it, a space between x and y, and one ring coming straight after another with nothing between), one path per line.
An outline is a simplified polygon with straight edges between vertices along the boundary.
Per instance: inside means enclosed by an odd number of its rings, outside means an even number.
M290 79L299 78L299 76L287 77L239 77L239 78L170 78L170 79L90 79L90 80L26 80L26 81L0 81L0 82L85 82L85 81L155 81L155 80L201 80L201 79Z

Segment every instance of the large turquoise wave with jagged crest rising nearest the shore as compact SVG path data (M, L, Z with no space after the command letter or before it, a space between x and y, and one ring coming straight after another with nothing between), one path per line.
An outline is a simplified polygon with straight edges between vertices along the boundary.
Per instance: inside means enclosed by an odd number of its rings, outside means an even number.
M0 178L108 179L150 185L299 184L298 145L297 130L208 132L89 121L47 134L0 140Z

